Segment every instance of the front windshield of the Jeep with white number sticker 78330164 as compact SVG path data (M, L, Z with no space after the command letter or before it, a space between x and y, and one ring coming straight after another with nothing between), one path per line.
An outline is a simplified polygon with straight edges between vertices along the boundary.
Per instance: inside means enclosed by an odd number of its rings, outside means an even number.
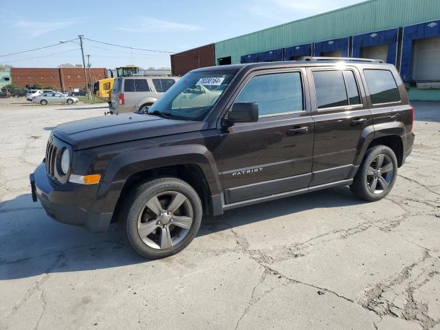
M190 72L170 87L148 113L180 120L203 120L228 87L236 70Z

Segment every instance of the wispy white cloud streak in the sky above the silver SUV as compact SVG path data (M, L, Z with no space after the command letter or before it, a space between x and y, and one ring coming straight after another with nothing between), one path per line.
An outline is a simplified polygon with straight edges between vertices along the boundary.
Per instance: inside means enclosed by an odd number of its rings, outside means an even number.
M121 31L128 32L175 32L175 31L198 31L202 30L195 25L184 23L176 23L169 21L162 21L160 19L152 19L150 17L141 17L140 23L136 22L133 28L120 27L116 28Z

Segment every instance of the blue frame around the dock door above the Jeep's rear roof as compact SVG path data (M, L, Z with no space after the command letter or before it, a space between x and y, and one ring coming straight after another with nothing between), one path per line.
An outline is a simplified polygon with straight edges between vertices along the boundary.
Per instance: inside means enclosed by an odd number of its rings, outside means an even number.
M353 57L362 57L362 47L388 45L386 63L396 65L398 33L399 29L391 29L353 36Z

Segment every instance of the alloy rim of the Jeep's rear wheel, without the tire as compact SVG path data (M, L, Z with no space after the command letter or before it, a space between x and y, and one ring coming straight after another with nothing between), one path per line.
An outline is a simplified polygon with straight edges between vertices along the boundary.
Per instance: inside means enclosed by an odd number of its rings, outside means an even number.
M395 168L391 157L385 153L377 155L366 171L366 184L373 194L382 194L393 181Z

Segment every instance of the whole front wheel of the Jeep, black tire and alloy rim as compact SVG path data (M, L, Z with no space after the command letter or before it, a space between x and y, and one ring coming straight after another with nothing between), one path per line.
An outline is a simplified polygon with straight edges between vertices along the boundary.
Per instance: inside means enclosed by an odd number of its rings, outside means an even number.
M162 177L131 191L122 204L120 232L122 239L141 256L161 259L191 243L202 214L199 195L189 184L174 177Z

